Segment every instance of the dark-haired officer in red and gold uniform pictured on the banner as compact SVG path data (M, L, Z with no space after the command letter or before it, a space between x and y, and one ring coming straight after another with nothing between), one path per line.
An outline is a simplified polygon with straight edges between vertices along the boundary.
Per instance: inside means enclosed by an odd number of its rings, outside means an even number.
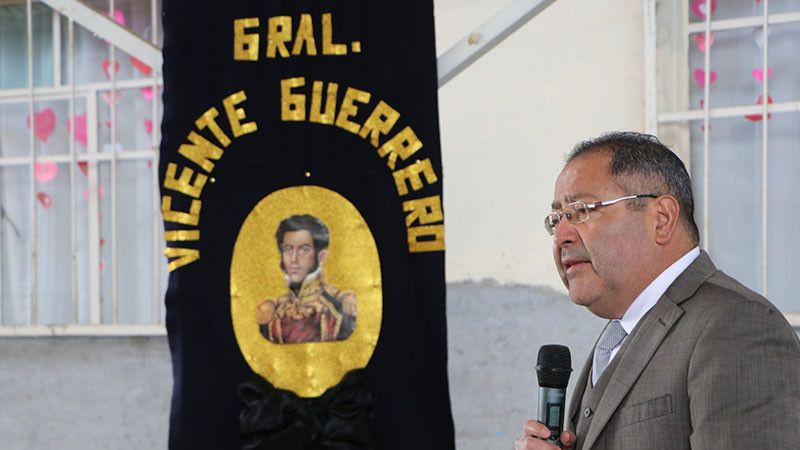
M288 292L256 306L261 334L276 344L341 341L356 326L356 294L325 281L330 231L303 214L283 219L275 232Z

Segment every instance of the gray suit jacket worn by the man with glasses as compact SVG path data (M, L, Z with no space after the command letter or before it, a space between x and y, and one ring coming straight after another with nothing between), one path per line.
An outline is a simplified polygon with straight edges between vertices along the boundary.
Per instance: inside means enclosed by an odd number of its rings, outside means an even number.
M717 270L705 252L616 358L579 436L582 450L800 449L797 334L774 305ZM591 365L589 355L570 403L572 424Z

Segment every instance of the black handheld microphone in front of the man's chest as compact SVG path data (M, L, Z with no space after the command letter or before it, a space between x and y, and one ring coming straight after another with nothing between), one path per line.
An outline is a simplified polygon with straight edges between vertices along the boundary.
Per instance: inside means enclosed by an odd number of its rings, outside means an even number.
M561 446L559 440L564 430L564 404L567 383L572 373L572 358L564 345L543 345L536 360L539 378L539 422L550 429L547 442Z

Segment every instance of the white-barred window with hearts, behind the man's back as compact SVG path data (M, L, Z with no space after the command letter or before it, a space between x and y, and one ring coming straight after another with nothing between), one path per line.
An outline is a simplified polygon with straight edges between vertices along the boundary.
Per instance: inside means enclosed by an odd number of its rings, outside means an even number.
M690 167L701 246L800 326L800 2L644 5L646 124Z

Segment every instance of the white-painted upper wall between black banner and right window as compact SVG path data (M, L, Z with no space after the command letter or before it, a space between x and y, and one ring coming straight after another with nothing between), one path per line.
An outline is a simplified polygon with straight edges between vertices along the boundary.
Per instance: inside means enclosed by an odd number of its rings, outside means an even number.
M434 0L439 54L509 0ZM564 154L644 129L641 0L557 0L439 90L447 280L549 285Z

